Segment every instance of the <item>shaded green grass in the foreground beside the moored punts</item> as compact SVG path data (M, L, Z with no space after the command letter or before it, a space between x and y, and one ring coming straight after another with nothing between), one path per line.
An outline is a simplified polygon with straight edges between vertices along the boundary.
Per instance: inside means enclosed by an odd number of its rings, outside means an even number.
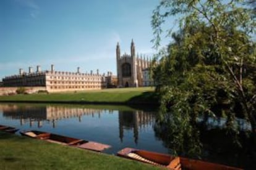
M95 153L0 132L0 169L158 169Z

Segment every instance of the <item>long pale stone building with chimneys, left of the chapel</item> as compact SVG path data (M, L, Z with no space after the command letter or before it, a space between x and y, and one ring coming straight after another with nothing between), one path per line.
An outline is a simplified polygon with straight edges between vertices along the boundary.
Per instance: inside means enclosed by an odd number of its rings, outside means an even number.
M100 75L98 70L80 73L78 67L77 72L55 71L51 65L51 70L41 71L38 65L35 72L32 67L28 68L28 73L20 68L19 75L6 76L2 84L4 87L45 87L48 92L83 91L105 88L105 79L105 74Z

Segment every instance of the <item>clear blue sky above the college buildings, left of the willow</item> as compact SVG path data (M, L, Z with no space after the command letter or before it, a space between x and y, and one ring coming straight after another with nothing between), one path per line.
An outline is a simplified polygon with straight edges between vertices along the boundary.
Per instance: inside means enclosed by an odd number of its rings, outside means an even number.
M82 73L96 69L116 75L116 44L121 54L151 55L150 25L158 0L1 0L0 79L50 70Z

